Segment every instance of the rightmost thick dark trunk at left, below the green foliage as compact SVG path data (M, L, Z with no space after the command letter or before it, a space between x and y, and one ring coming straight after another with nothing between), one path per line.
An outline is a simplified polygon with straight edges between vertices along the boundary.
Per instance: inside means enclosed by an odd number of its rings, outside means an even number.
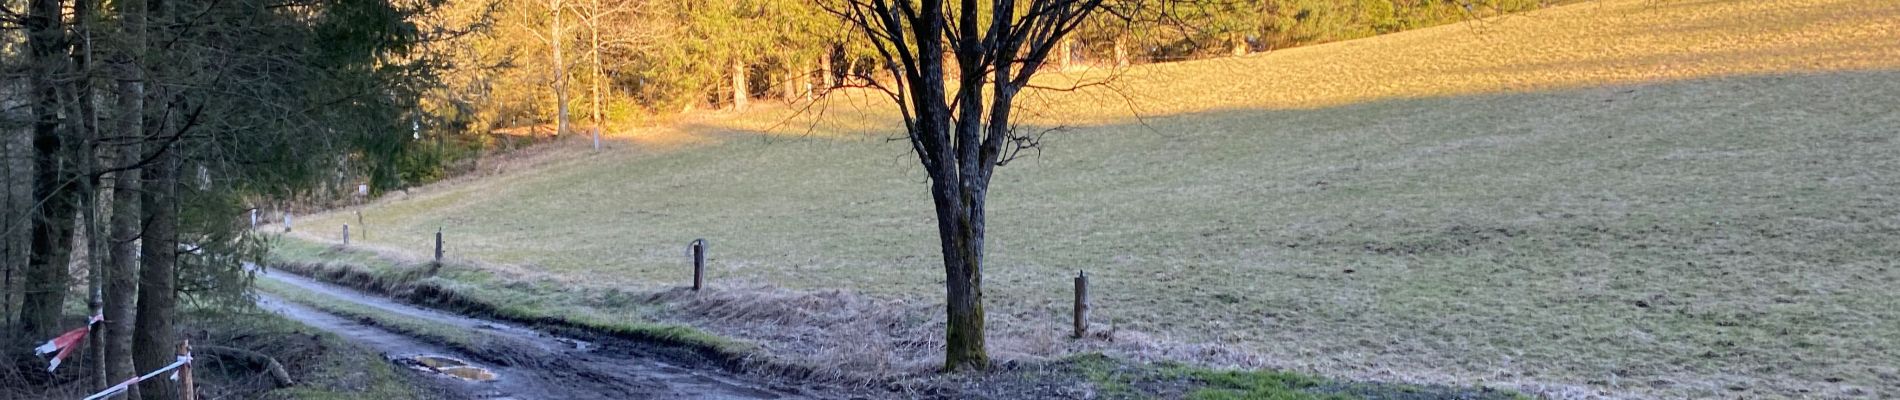
M169 121L167 121L169 125ZM167 127L177 129L177 127ZM141 237L142 265L139 271L139 315L133 326L133 364L141 372L158 370L175 360L173 286L179 264L179 148L154 148L158 155L144 167L142 209L148 218ZM179 392L167 379L139 383L144 400L171 400Z

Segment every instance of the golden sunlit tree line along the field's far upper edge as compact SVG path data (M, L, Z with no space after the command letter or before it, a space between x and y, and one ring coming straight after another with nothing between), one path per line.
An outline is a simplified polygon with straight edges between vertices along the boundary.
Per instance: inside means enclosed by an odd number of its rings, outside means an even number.
M1244 55L1469 21L1564 0L1142 0L1053 49L1054 68ZM811 0L448 0L490 11L456 42L439 108L477 129L598 127L752 99L806 100L889 76L874 44ZM1117 11L1119 13L1119 11ZM452 104L450 104L452 102Z

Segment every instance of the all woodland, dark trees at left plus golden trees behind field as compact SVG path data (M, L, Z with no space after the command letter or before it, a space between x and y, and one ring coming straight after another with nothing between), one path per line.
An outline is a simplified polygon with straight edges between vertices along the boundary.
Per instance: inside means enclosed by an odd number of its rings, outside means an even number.
M1244 55L1541 6L1127 2L1051 59ZM809 100L889 80L876 63L826 2L0 0L0 366L17 370L0 383L104 387L169 364L180 309L245 305L243 262L264 248L251 210L429 182L496 129ZM93 313L95 345L40 373L25 349Z

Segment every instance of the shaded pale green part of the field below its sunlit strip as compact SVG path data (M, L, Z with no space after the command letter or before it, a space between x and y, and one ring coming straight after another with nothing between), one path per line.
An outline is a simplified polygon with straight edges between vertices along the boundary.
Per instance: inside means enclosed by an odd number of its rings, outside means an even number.
M1900 72L1864 70L1075 129L998 171L992 343L1064 351L1011 341L1058 332L1049 288L1089 269L1102 318L1186 343L1104 345L1142 360L1537 394L1866 394L1890 387L1887 372L1854 366L1900 349L1900 326L1866 324L1900 320L1881 256L1900 252L1887 224L1896 102ZM720 279L940 296L906 144L686 129L728 136L384 224L422 237L448 222L467 237L458 254L585 284L684 282L678 243L709 237L726 243L722 265L745 265ZM674 174L716 184L654 178ZM838 326L806 328L863 349ZM1748 368L1761 364L1784 368Z

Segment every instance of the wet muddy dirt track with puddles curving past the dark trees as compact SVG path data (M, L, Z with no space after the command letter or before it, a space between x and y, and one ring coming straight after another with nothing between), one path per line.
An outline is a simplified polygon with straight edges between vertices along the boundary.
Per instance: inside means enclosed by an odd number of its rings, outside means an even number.
M450 372L437 373L435 381L441 381L441 387L458 398L844 398L821 387L732 373L709 362L695 364L686 360L690 356L676 356L676 351L669 353L669 349L650 343L618 337L562 337L526 326L397 303L285 271L258 273L258 279L296 286L323 296L325 301L348 301L397 318L479 336L483 345L475 347L481 349L467 349L469 345L412 337L370 320L353 320L274 296L258 296L260 307L374 349L391 362L424 373ZM471 368L456 368L458 362Z

